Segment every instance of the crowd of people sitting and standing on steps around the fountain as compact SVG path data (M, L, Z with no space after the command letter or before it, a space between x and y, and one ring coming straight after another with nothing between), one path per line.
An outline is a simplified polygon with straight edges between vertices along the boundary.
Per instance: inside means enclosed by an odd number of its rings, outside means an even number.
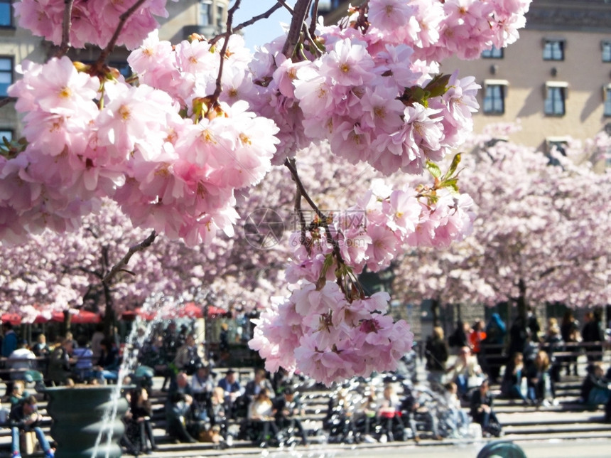
M486 323L476 320L472 326L459 322L448 339L436 326L424 346L431 390L414 385L409 376L382 385L360 380L357 391L342 388L332 395L323 430L331 441L419 442L423 434L434 440L466 437L475 422L484 435L502 435L490 385L499 384L502 396L524 405L556 403L555 384L562 376L578 374L575 351L567 350L583 342L590 344L581 401L589 406L606 405L611 421L611 368L605 371L602 363L600 342L605 334L600 323L597 314L586 314L580 328L568 311L561 323L549 319L542 330L529 311L525 324L517 319L510 327L498 314L492 314ZM4 399L10 406L0 409L0 422L13 428L13 454L20 456L19 434L31 431L45 456L53 456L38 426L36 397L27 392L26 383L117 383L119 341L99 328L90 337L75 339L68 333L53 345L40 334L36 342L28 344L8 323L3 324L2 337L4 367L11 370L3 372ZM173 321L143 340L136 348L139 366L131 380L136 388L125 393L129 402L122 438L126 451L139 454L157 447L149 399L153 376L163 377L166 431L172 440L227 447L233 439L231 423L239 425L238 438L261 447L287 440L308 443L301 422L304 405L299 384L286 371L256 371L242 386L234 371L215 368L215 360L205 355L204 346L187 326L178 329ZM454 357L452 348L457 348Z

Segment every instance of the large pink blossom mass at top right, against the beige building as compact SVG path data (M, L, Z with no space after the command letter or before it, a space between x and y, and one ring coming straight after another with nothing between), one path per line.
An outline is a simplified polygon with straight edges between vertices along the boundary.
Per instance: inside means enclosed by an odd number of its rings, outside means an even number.
M529 3L374 0L347 24L318 28L320 55L287 59L279 41L261 48L249 102L280 127L274 162L328 139L353 164L421 174L465 140L478 107L474 78L438 78L438 61L515 41Z

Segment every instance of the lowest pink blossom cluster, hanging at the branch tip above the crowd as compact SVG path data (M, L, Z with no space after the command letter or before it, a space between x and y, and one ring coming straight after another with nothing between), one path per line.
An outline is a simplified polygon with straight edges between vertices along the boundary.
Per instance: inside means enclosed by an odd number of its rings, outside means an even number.
M256 323L251 348L266 369L299 371L330 385L372 371L391 371L411 349L405 321L384 314L389 294L348 302L336 283L304 282L286 302L273 303Z

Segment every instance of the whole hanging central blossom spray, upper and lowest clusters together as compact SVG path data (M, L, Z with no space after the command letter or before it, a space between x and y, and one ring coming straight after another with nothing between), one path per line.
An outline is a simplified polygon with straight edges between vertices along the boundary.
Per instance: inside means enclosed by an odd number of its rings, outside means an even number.
M327 384L372 368L394 370L413 334L405 321L386 314L389 295L365 297L355 275L389 267L404 245L440 247L462 239L474 218L471 205L469 196L447 187L417 193L373 183L357 206L293 233L286 279L295 289L255 320L249 345L268 371L298 368Z

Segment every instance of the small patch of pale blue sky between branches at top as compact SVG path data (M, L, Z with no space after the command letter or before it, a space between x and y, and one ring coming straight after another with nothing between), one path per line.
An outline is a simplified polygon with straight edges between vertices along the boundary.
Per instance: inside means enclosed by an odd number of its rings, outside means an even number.
M232 1L231 4L234 4ZM242 0L237 13L234 16L234 24L237 25L257 14L264 13L276 4L276 0ZM286 4L293 6L295 0L288 0ZM252 26L244 29L244 40L246 46L254 50L254 46L259 46L267 43L277 36L282 34L280 23L288 23L291 20L291 15L286 9L281 8L274 11L268 19L261 19Z

